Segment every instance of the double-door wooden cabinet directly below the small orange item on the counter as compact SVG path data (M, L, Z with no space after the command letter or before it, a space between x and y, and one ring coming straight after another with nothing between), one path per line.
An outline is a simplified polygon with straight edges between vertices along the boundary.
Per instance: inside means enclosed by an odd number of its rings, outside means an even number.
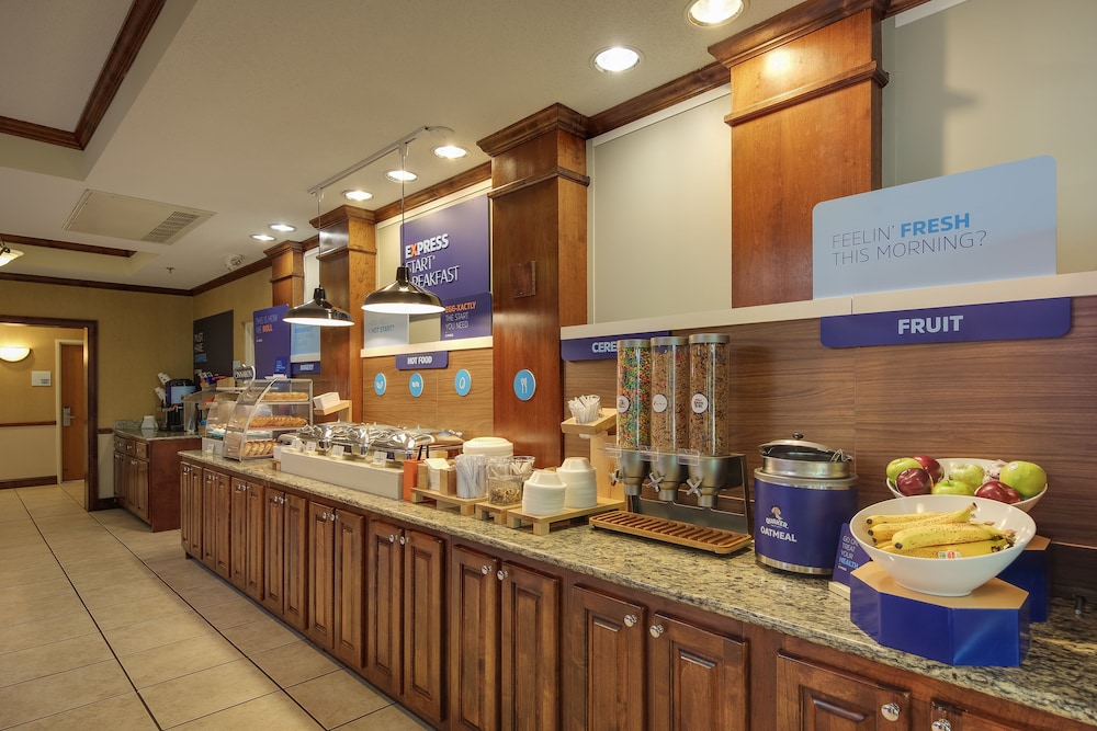
M366 537L366 679L440 724L445 544L381 518L370 519Z

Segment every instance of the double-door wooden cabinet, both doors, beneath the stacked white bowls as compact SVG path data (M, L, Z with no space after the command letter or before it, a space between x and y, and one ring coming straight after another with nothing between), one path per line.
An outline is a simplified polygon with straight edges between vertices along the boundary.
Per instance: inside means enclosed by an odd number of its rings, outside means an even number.
M449 583L450 728L559 728L561 580L456 546Z

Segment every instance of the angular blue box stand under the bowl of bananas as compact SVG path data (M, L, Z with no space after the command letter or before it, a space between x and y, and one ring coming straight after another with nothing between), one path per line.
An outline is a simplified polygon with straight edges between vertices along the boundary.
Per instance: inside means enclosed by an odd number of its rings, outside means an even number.
M884 647L950 665L1017 666L1029 647L1028 592L1000 579L931 596L869 561L850 575L849 618Z

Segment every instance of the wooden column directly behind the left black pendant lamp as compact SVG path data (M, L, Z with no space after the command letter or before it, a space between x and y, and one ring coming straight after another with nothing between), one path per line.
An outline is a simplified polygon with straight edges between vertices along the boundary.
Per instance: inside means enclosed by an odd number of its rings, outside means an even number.
M320 374L313 391L337 391L362 413L362 301L376 288L377 231L372 212L340 206L313 221L320 232L320 286L328 300L350 312L350 328L320 330ZM309 293L310 294L310 293Z

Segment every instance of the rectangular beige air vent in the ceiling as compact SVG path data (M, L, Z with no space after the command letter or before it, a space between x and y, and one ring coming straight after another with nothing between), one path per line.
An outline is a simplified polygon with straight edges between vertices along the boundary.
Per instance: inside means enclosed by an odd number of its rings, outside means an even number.
M170 203L84 191L65 229L129 241L174 243L213 215Z

